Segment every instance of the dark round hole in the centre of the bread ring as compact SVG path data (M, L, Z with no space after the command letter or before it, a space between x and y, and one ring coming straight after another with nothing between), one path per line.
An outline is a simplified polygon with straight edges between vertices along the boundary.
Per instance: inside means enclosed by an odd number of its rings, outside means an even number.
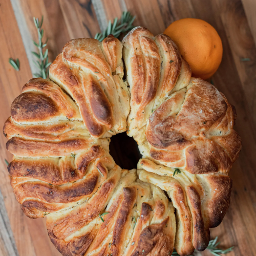
M123 169L137 168L137 163L142 157L137 142L126 133L119 133L111 138L110 155Z

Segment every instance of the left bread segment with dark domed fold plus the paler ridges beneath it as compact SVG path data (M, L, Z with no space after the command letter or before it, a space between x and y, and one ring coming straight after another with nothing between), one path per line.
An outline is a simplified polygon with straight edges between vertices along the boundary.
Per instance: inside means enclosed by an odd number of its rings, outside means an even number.
M11 117L5 122L3 132L13 144L24 140L60 142L90 137L74 101L57 84L42 78L33 78L25 84L22 94L11 105Z

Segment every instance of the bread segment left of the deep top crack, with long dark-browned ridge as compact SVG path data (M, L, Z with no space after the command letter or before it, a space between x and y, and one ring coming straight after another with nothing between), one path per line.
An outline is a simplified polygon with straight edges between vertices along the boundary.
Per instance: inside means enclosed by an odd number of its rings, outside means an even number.
M129 91L122 80L122 44L117 38L72 39L53 61L49 76L75 100L93 137L126 131Z

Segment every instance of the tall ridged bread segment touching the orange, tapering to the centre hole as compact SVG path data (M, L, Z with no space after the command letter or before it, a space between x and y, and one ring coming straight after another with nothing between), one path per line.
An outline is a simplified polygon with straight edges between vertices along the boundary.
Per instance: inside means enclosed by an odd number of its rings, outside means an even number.
M177 46L164 34L154 37L146 28L136 27L122 44L131 94L127 134L134 136L172 91L187 86L191 71Z

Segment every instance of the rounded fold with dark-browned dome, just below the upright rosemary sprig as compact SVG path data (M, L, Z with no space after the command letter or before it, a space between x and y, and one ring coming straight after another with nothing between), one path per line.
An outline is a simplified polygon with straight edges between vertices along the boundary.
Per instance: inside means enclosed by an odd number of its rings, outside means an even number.
M22 92L11 105L11 115L16 122L80 119L76 104L51 80L33 78Z

